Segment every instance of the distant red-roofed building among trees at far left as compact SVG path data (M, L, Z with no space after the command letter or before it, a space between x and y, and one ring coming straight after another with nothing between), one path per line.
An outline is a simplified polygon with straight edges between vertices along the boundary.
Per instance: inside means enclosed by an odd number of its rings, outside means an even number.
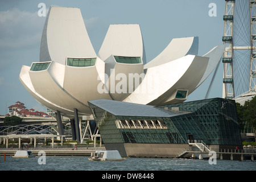
M11 105L8 107L9 112L6 116L16 115L18 117L48 117L47 113L42 111L35 111L35 109L27 109L26 106L22 102L15 102L15 105Z

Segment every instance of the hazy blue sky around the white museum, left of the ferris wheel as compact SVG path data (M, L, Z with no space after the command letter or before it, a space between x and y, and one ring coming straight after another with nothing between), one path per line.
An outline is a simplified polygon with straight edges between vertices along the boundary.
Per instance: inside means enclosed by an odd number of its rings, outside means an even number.
M39 3L50 6L77 7L96 53L110 24L139 24L147 62L158 56L174 38L199 36L199 56L223 44L223 0L74 0L36 1L0 0L0 115L16 101L27 109L46 111L19 81L22 65L39 61L40 41L45 16L39 16ZM210 6L215 3L216 9ZM216 11L214 11L216 10ZM209 15L214 14L214 16ZM187 101L201 100L213 73L188 96ZM222 97L223 64L217 68L208 98Z

